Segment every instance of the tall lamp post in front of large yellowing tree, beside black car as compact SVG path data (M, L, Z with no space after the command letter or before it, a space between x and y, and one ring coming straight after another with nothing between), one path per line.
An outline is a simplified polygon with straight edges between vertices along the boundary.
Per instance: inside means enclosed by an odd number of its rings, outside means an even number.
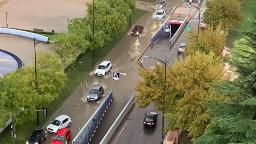
M143 56L142 58L153 58L150 56ZM156 60L159 60L158 58L153 58ZM159 60L160 62L162 62L164 64L164 96L163 96L163 119L162 119L162 137L161 137L161 144L163 144L164 142L164 110L165 110L165 90L166 90L166 57L165 57L165 62L162 60Z

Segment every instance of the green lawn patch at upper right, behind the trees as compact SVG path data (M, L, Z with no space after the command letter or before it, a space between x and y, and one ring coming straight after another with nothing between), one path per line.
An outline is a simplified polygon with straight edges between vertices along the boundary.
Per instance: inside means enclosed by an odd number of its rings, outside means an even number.
M246 21L247 18L254 18L256 14L256 1L255 0L241 0L241 9L244 16L244 20L241 26L236 28L237 30L232 30L228 33L226 45L228 47L233 47L233 42L239 38L243 37L242 32L239 30L251 30L252 24Z

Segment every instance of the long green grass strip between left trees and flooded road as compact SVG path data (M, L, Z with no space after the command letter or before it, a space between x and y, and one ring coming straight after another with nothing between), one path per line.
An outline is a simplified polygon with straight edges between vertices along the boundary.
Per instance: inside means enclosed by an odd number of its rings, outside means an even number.
M140 9L134 9L134 13L131 16L131 24L136 22L146 11ZM95 62L102 60L112 50L112 48L124 37L126 32L130 30L130 28L126 28L125 31L117 32L116 36L114 36L113 40L106 43L106 46L102 49L95 50ZM80 64L79 62L82 62ZM48 114L51 115L55 110L61 106L61 104L76 90L76 88L86 79L89 72L93 70L92 68L92 53L86 52L82 56L78 58L74 68L66 70L68 75L68 80L66 82L66 88L64 88L56 100L54 100L50 106L48 107ZM49 116L44 117L42 113L40 113L40 124L42 125ZM25 122L22 125L16 126L16 144L24 144L26 142L25 138L30 136L32 131L36 129L36 120ZM6 130L2 133L0 137L0 144L12 144L12 138L10 134L10 127L6 128Z

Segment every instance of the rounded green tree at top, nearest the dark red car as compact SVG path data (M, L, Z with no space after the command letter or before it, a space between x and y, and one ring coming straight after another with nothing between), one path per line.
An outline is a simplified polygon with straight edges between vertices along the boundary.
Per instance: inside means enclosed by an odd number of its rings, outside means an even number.
M88 10L86 19L90 26L93 23L93 4L87 3ZM112 8L105 0L96 0L94 3L95 31L102 30L105 34L112 34L117 30L125 30L126 17L124 14Z

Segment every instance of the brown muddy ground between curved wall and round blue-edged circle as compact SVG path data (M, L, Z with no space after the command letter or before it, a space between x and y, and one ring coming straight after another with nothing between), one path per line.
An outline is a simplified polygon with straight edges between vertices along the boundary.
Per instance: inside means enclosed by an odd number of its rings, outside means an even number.
M36 50L44 50L46 53L51 54L48 47L49 44L39 43L36 45ZM34 62L33 39L0 34L0 49L6 50L18 56L20 60L22 60L24 66L32 66Z

